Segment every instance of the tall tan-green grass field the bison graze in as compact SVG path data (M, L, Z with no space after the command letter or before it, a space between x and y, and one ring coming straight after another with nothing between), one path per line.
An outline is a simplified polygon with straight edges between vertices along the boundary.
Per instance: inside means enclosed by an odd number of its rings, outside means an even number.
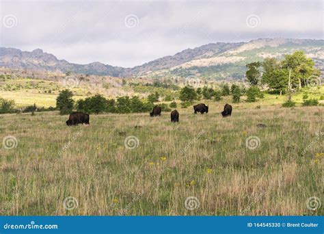
M206 104L204 115L178 109L178 123L169 113L92 115L77 127L57 112L1 115L1 214L324 214L308 208L323 201L323 107L239 103L221 118L224 101Z

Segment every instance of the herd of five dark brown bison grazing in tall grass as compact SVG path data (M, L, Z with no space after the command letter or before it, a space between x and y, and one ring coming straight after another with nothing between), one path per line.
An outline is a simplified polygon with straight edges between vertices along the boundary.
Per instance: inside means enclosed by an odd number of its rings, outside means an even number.
M206 106L204 103L200 103L198 105L193 106L194 113L197 114L197 112L200 112L200 114L204 114L205 112L208 113L208 106ZM161 107L154 106L152 109L152 112L150 112L150 116L161 116ZM224 105L224 111L221 112L221 115L223 117L231 116L232 114L232 105L229 105L226 103ZM179 112L174 109L171 114L171 122L179 122ZM70 114L70 117L66 121L66 125L72 126L72 125L78 125L78 124L85 124L89 125L90 116L88 114L82 113L82 112L72 112Z

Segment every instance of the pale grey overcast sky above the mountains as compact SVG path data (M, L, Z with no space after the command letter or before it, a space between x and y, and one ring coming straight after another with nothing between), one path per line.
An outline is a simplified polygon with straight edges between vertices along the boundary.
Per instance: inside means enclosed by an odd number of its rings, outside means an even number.
M211 42L323 39L322 1L2 1L1 47L131 67Z

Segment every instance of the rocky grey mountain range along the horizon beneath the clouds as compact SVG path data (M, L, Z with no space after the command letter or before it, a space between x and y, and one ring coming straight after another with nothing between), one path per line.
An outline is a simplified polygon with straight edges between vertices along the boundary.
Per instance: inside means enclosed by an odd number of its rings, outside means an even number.
M100 62L72 64L57 60L41 49L31 52L0 47L0 66L28 70L48 70L114 77L187 77L197 75L207 79L242 79L245 64L261 61L265 57L282 58L296 50L305 51L324 73L324 40L310 39L258 39L249 42L206 44L185 49L173 56L161 57L134 68L110 66Z

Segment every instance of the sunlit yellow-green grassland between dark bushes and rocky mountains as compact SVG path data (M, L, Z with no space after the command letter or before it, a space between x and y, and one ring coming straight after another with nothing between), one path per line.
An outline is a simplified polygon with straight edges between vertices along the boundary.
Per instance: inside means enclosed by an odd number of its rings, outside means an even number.
M120 79L96 78L96 82L93 80L80 83L76 87L67 87L74 93L74 99L77 101L79 99L85 99L87 96L94 95L96 93L103 94L107 98L116 98L117 96L123 95L137 95L140 97L145 97L150 93L159 92L161 100L163 100L165 95L177 96L177 91L172 88L154 87L146 86L146 83L152 83L148 80L139 79L127 79L127 84L124 86L118 86L118 82L122 82ZM100 81L100 82L99 82ZM56 97L60 90L65 89L60 81L46 81L42 79L30 79L30 78L19 78L19 79L2 79L0 80L0 98L14 100L16 107L26 107L27 105L33 105L36 103L38 107L55 107ZM211 86L217 87L219 83L210 83ZM184 86L184 84L179 83L178 86ZM201 84L204 86L204 83ZM298 105L303 102L303 94L308 94L310 99L321 99L324 95L324 86L304 88L301 92L293 94L293 101ZM243 96L244 100L245 97ZM262 99L261 104L273 105L284 103L287 97L285 95L274 95L265 94L265 99ZM228 102L231 102L228 99ZM321 100L320 103L324 103ZM244 105L248 105L245 103Z

